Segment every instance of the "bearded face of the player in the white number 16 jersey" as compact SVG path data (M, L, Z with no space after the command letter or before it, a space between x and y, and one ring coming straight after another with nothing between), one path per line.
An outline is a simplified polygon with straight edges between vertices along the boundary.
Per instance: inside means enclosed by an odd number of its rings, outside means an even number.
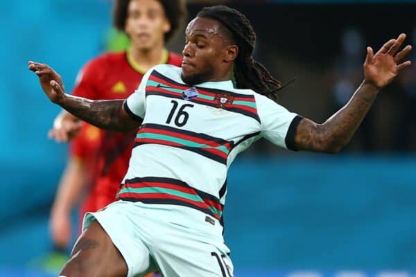
M227 66L226 52L227 46L218 21L196 17L185 31L182 80L187 84L215 80Z

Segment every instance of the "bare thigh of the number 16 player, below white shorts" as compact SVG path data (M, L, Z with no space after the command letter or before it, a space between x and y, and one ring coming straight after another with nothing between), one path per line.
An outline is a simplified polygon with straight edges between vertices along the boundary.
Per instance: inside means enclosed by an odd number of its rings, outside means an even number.
M128 267L121 253L97 221L80 235L73 247L71 258L62 269L68 277L121 277L127 276Z

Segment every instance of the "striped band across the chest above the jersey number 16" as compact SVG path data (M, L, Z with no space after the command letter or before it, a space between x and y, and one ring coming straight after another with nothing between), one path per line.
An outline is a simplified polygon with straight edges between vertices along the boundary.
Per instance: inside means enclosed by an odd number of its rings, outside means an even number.
M191 88L193 87L175 82L154 70L146 82L146 97L153 95L184 99L182 93ZM234 93L232 91L223 91L220 89L209 89L205 87L194 88L198 91L198 96L189 99L189 101L225 109L227 111L233 111L254 118L254 120L260 122L254 95ZM226 99L228 101L226 103L219 102L222 96L227 97Z

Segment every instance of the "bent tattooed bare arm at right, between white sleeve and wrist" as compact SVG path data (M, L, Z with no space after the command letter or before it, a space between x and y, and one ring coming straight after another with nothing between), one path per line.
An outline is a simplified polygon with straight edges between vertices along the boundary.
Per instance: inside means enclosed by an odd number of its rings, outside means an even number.
M351 140L378 92L379 89L364 81L347 105L323 124L302 119L297 125L296 148L317 152L339 152Z

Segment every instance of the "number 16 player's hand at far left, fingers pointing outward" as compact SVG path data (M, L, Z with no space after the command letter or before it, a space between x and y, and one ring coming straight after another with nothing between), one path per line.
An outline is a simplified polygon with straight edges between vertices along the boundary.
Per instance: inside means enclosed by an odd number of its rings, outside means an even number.
M52 102L59 103L64 99L65 93L62 78L51 67L47 64L29 61L29 70L39 77L42 89Z

